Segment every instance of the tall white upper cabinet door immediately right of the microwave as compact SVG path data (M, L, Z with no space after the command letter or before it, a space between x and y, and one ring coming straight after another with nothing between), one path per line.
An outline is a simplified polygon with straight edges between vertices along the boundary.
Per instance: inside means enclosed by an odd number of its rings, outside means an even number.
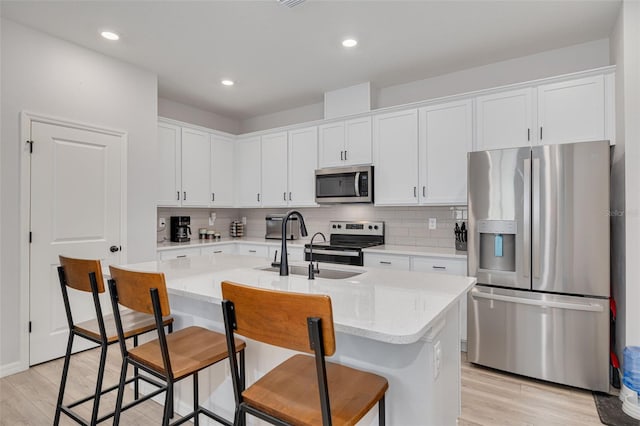
M418 110L373 117L376 205L418 203Z

